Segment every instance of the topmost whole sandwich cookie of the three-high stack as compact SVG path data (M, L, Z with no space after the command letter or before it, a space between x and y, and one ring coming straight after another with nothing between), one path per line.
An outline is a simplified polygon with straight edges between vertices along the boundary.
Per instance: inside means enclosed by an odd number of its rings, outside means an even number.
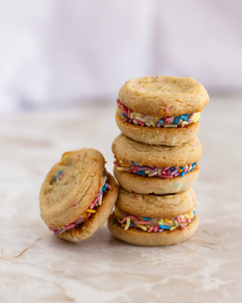
M119 90L116 122L135 141L180 145L198 133L198 119L208 101L206 89L192 78L132 79Z

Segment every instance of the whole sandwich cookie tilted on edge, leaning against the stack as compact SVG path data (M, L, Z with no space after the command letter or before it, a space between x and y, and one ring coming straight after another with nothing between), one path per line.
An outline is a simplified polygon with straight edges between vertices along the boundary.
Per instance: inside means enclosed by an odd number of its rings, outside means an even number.
M85 240L107 220L118 187L104 164L99 151L83 148L64 153L48 172L40 191L41 217L58 237Z

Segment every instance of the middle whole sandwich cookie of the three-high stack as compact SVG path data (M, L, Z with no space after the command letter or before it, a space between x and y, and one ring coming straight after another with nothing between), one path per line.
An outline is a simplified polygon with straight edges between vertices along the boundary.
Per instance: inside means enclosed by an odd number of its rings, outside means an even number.
M191 187L199 173L198 137L177 146L149 145L120 134L112 144L119 184L140 194L164 195Z

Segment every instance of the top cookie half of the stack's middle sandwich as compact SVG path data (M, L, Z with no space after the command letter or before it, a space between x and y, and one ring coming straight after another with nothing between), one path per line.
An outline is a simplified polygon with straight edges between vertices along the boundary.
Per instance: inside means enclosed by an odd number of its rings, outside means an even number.
M170 167L198 161L202 155L202 146L197 136L181 145L165 146L136 142L120 134L113 141L112 151L118 159L136 162L139 166Z

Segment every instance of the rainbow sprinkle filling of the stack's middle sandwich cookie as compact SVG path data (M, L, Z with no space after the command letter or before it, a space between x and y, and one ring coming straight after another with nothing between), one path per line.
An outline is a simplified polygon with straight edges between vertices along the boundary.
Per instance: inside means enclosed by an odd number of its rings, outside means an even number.
M147 165L139 165L137 161L128 162L124 160L119 160L114 156L115 161L113 163L118 165L116 168L118 171L126 171L131 172L141 176L148 176L148 177L160 177L160 178L173 178L173 177L183 177L189 171L192 171L197 162L192 164L185 164L184 166L170 166L170 167L155 167L147 166Z

